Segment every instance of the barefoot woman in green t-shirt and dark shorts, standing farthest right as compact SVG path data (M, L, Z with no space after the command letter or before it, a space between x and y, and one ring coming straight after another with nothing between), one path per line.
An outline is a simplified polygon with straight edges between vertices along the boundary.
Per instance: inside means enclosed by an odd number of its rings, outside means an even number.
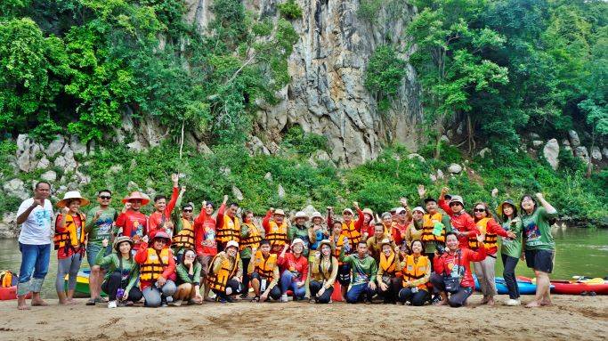
M555 218L557 210L545 200L542 193L536 193L536 199L526 194L520 202L526 264L536 274L536 296L534 301L526 304L527 308L551 305L549 273L553 271L555 241L549 220Z

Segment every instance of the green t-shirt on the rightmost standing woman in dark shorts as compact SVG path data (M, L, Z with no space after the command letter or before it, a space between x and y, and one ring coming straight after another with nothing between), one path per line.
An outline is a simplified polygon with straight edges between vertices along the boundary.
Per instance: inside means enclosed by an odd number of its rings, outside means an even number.
M557 213L548 214L545 207L538 207L531 215L523 212L523 239L526 250L553 250L555 241L551 235L551 226L548 220L555 218Z

